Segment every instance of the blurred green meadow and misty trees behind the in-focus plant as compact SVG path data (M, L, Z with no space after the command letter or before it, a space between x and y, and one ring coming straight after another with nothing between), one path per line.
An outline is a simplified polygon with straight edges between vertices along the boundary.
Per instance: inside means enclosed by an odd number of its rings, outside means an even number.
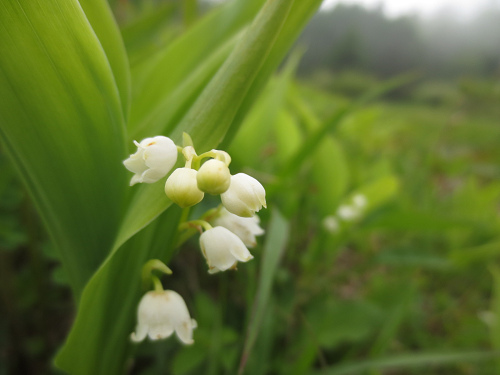
M110 3L132 70L218 6ZM128 372L498 374L499 46L495 2L467 19L345 4L313 17L223 143L267 189L267 238L217 277L187 243L166 285L188 296L196 344L145 343ZM0 156L0 374L57 373L74 302ZM342 220L358 194L365 209Z

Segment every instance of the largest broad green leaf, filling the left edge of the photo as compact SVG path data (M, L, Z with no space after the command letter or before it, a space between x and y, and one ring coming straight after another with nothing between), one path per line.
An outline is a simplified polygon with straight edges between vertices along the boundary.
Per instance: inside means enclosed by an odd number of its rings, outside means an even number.
M0 4L0 140L78 296L107 256L126 187L123 108L75 0Z

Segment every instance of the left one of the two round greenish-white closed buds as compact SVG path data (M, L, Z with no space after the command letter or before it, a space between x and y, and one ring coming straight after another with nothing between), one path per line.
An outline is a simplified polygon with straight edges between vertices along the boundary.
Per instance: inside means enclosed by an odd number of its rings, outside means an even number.
M205 195L196 183L196 171L191 168L177 168L165 183L165 194L182 208L194 206Z

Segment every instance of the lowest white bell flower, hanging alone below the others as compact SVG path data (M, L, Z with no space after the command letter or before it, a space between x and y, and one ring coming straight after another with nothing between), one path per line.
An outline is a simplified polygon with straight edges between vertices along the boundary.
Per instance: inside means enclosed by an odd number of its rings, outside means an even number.
M137 326L130 336L140 342L149 336L151 340L164 339L175 331L184 344L192 344L196 321L191 319L186 303L173 290L147 292L139 302Z

